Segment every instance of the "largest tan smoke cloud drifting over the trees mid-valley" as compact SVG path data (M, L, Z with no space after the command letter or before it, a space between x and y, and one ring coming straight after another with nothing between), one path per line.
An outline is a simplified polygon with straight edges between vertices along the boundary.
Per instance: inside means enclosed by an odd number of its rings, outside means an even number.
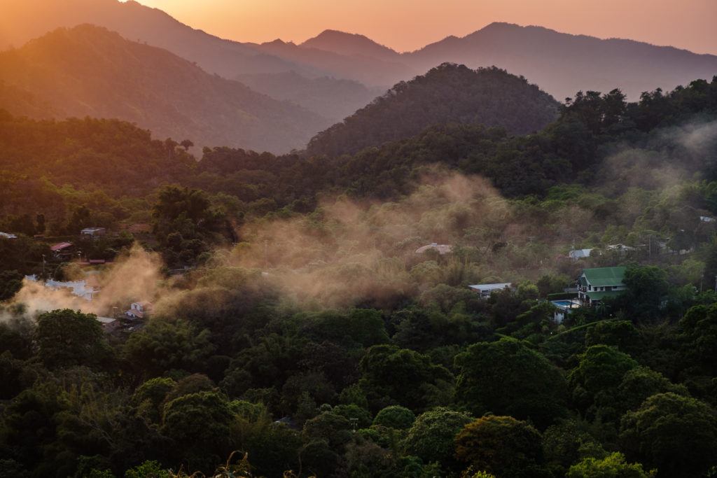
M242 242L226 263L265 269L266 279L290 297L323 305L350 305L357 298L381 302L414 295L415 285L438 273L438 254L417 254L427 244L460 246L466 229L502 236L521 234L511 208L478 176L439 171L425 174L414 192L394 202L345 196L321 201L315 213L259 220L239 231ZM485 249L490 248L488 237ZM460 274L478 278L476 264L454 262ZM419 265L423 264L423 265Z

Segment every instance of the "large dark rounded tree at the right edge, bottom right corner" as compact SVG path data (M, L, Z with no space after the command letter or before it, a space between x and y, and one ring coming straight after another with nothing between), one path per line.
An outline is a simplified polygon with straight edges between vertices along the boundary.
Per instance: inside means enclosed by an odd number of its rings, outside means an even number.
M675 393L647 398L620 423L627 457L655 467L660 477L700 477L717 465L717 412Z

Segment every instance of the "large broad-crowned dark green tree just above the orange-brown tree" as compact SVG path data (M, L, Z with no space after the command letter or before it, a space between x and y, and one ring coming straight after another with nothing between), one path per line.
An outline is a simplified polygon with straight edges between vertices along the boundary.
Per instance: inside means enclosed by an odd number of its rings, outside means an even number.
M471 345L455 363L456 398L473 414L531 419L545 428L566 412L565 378L543 355L518 340Z

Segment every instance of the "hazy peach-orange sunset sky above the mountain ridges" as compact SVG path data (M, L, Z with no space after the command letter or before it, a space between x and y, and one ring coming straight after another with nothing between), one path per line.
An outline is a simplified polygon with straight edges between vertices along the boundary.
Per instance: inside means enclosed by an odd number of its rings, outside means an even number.
M219 37L303 42L324 29L399 51L492 21L717 54L717 0L139 0Z

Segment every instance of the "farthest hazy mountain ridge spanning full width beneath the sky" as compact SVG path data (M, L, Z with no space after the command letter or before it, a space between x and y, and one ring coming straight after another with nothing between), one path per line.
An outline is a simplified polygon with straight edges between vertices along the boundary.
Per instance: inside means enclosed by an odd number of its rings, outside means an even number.
M637 100L644 91L672 90L717 75L715 55L500 22L465 37L450 36L414 52L397 53L364 35L336 30L326 30L299 45L280 40L234 42L188 27L133 0L4 0L4 4L0 42L5 46L24 44L57 27L92 23L127 39L168 49L229 79L295 72L308 79L333 77L387 89L437 64L455 62L471 68L498 66L525 76L560 99L578 90L620 88ZM327 94L319 101L335 99Z

